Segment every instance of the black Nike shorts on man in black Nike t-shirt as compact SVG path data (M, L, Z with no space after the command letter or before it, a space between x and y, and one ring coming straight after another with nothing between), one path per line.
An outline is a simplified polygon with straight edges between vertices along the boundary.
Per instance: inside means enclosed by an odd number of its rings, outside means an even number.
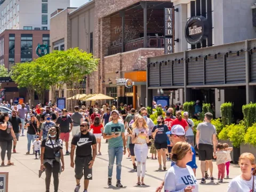
M84 179L92 180L92 169L89 169L89 162L92 156L75 158L75 178L80 180L84 175ZM84 172L83 172L84 171Z

